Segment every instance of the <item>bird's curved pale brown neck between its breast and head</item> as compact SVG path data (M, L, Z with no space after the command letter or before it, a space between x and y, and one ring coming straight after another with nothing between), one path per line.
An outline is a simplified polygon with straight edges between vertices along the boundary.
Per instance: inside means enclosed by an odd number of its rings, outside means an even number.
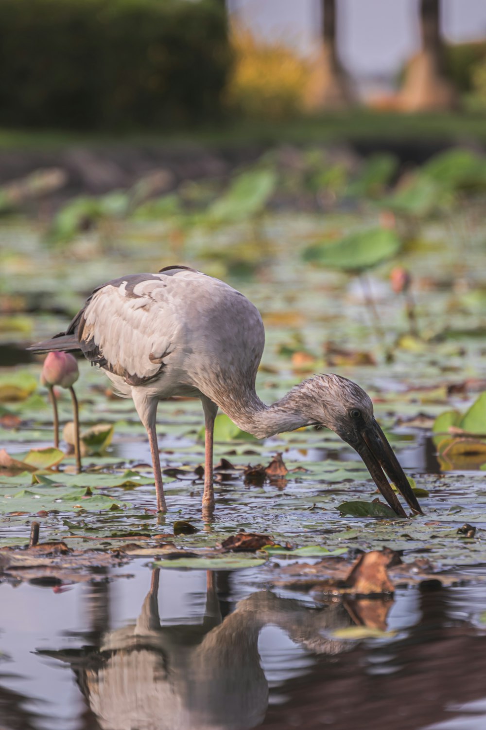
M242 431L247 431L257 439L265 439L283 431L295 431L312 423L309 416L299 409L294 398L289 396L290 393L287 393L270 406L265 405L255 391L246 393L243 399L219 397L215 402Z

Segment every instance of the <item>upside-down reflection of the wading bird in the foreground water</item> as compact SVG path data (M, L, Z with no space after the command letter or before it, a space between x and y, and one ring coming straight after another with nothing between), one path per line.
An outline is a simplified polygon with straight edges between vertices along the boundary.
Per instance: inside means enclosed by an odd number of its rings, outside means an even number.
M369 623L384 628L392 602L329 602L317 609L270 591L252 593L222 618L216 575L206 577L202 623L160 626L160 571L134 625L95 630L95 647L49 652L68 661L103 730L243 730L264 720L268 685L258 651L260 630L279 626L314 654L334 654L349 643L324 630ZM107 597L107 596L106 596ZM99 598L99 596L95 596ZM106 602L98 601L108 619ZM97 614L92 611L93 616ZM100 621L97 629L99 629Z

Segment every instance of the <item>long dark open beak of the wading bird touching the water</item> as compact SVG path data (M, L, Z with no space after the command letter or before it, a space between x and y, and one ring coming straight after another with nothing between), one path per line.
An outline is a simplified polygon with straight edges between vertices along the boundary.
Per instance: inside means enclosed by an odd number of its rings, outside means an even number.
M401 468L391 445L386 440L385 434L375 419L373 419L370 426L366 426L361 430L358 443L353 444L353 446L366 464L377 488L397 515L407 517L404 508L401 506L396 493L388 483L385 474L388 475L388 478L399 490L401 496L407 500L407 504L411 507L412 512L415 515L423 515L417 497L413 493L412 487L409 485L407 477L404 474L404 470Z

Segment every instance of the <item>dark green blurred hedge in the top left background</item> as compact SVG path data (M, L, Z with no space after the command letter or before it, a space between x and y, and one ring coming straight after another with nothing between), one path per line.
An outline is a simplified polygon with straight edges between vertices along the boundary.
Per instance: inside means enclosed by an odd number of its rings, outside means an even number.
M0 123L83 130L211 120L231 58L216 0L0 0Z

